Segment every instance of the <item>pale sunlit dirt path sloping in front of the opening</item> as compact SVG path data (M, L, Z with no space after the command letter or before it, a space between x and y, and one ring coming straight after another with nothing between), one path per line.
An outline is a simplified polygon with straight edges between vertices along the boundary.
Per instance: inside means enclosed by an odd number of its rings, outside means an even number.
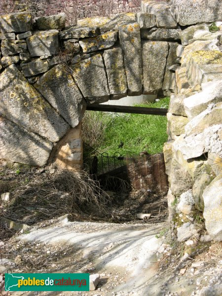
M155 254L161 245L161 239L157 239L155 235L163 227L164 223L114 224L68 222L65 219L47 228L34 229L28 234L19 236L18 240L22 244L24 242L44 244L49 250L46 252L51 254L60 244L63 247L65 245L69 252L72 250L74 258L70 256L71 261L60 259L57 262L59 269L54 272L100 273L98 290L81 293L82 296L144 296L148 295L145 294L146 282L155 275ZM77 262L79 268L75 268ZM72 295L75 294L78 295L77 292L72 292ZM70 295L70 293L54 292L41 295Z

